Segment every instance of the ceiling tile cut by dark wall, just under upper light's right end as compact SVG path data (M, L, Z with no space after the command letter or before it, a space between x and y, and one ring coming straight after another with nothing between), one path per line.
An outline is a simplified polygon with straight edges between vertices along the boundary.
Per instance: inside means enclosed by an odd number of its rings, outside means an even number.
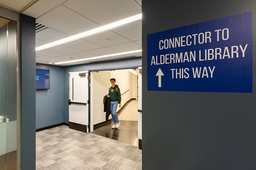
M126 24L124 26L119 26L117 28L111 29L111 31L124 36L125 38L136 41L141 39L141 19Z

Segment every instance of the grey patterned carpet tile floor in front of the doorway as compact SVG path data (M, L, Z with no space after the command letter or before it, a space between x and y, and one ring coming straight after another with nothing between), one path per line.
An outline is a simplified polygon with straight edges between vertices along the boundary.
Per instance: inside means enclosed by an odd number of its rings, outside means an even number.
M36 170L66 169L142 169L142 151L65 125L36 132Z

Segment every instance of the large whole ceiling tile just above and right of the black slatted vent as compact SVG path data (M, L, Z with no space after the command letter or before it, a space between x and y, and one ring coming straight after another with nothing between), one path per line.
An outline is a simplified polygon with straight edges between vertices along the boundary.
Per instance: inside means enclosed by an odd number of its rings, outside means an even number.
M36 19L36 22L70 35L99 27L98 24L62 5Z

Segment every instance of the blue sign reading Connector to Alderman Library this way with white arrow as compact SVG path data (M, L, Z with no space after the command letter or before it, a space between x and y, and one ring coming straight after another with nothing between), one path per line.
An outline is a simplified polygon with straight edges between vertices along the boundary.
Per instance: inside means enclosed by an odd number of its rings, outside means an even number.
M252 11L147 35L150 91L252 93Z

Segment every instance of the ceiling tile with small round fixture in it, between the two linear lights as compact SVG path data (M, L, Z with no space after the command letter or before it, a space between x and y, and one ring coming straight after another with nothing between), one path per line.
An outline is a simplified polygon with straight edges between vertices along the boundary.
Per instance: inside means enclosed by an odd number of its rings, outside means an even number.
M105 31L102 33L94 34L85 38L83 40L90 41L105 47L121 44L125 42L130 42L130 40L113 33L112 31ZM105 39L110 39L110 41L106 41Z

